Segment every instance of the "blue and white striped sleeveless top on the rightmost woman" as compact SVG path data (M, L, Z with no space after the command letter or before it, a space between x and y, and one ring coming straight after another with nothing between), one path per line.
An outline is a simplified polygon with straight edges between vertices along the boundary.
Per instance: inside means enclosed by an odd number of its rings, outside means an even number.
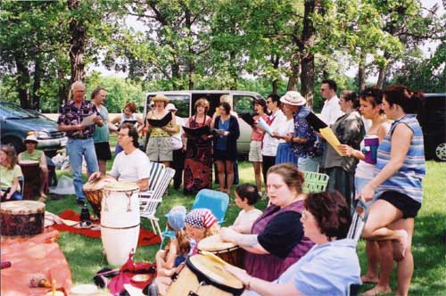
M407 114L392 123L389 132L385 135L383 142L378 146L376 157L376 174L384 168L391 158L392 134L399 124L409 127L413 136L410 140L408 154L402 167L383 184L376 188L376 197L386 191L395 191L409 196L409 198L422 203L423 187L421 181L425 177L425 145L423 132L417 120L416 114Z

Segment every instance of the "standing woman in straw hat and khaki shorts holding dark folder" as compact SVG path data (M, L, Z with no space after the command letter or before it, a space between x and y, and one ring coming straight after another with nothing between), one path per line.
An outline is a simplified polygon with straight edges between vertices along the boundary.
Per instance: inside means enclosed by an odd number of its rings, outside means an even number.
M166 110L169 99L165 95L155 95L152 98L154 108L147 112L146 119L163 119L170 111ZM150 133L149 141L145 153L149 160L161 162L166 167L170 166L170 161L173 160L172 140L170 136L178 133L179 126L175 116L172 116L169 124L164 127L152 127L148 120L146 120L145 131Z

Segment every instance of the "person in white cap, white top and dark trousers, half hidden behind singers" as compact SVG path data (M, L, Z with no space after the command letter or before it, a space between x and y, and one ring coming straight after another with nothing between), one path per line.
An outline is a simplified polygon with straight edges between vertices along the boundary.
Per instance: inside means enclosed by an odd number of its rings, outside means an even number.
M183 128L181 128L185 126L185 120L176 115L178 109L173 103L168 103L166 106L166 110L172 112L172 117L175 117L175 120L177 121L177 125L179 127L178 133L171 136L173 159L172 169L175 169L175 176L173 177L173 188L175 190L178 190L183 179L183 169L185 168L186 145L183 143L182 136L184 131Z

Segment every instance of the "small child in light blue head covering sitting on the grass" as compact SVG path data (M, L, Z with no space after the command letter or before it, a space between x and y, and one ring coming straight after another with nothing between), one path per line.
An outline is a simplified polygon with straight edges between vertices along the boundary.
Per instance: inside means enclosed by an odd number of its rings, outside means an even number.
M191 246L187 240L185 231L186 208L176 206L169 210L168 227L175 232L175 238L164 250L157 251L156 272L157 276L171 276L177 271L177 267L186 260Z

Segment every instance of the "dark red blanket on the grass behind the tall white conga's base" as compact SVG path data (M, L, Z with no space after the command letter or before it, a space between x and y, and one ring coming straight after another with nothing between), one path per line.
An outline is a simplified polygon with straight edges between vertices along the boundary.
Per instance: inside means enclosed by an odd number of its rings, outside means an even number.
M60 215L60 218L79 221L79 214L73 210L64 210ZM101 237L101 230L92 230L89 228L76 228L72 226L66 226L64 224L55 224L55 229L59 231L68 231L74 234L82 234L88 237ZM152 231L144 229L143 227L139 230L138 246L146 246L153 243L161 243L160 235L153 234Z

